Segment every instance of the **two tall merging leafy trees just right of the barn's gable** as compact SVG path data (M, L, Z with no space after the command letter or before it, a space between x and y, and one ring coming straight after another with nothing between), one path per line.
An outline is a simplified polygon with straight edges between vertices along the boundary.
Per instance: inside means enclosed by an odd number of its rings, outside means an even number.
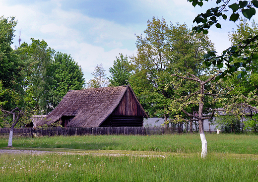
M201 58L214 48L207 36L192 36L185 24L168 26L164 18L155 17L147 23L146 36L137 36L138 53L132 58L135 73L130 83L148 114L166 119L170 115L171 98L176 94L171 74L178 71L201 74L205 67ZM188 95L194 87L184 80L177 88L178 95Z

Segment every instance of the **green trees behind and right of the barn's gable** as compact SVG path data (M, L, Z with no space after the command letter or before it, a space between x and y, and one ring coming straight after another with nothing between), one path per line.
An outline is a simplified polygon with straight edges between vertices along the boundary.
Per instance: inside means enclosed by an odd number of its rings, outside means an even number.
M250 25L242 18L239 22L229 34L232 45L258 35L256 22ZM258 131L258 62L239 63L258 55L255 41L238 55L235 46L223 52L233 55L227 64L221 59L204 61L215 53L213 43L186 24L168 25L165 19L153 17L144 34L136 37L137 55L120 54L109 77L97 65L88 87L130 84L150 117L165 118L172 125L188 123L190 132L214 117L213 122L227 131Z

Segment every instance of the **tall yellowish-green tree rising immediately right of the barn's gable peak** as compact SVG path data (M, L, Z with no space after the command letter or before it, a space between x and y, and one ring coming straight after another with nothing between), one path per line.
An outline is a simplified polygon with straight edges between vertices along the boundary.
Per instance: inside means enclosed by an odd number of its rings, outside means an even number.
M130 83L135 94L150 116L163 116L166 120L171 89L165 86L170 81L169 27L165 19L153 17L147 21L145 37L136 36L137 56L132 57L135 66Z

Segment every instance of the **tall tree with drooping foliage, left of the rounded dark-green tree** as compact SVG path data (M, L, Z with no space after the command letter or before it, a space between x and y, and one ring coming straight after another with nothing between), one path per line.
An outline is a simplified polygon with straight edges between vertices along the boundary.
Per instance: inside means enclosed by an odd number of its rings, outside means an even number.
M49 100L53 77L49 68L55 51L44 40L31 38L31 41L29 45L22 43L19 48L22 60L29 65L26 70L26 92L33 98L38 113L48 114L53 110Z

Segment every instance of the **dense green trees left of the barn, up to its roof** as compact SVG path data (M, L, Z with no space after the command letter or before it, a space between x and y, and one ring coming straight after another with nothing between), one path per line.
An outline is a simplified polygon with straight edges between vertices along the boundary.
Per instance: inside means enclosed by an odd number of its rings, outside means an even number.
M24 42L13 50L11 44L16 24L14 17L0 17L2 127L9 124L4 115L7 111L18 107L23 116L19 120L32 114L46 115L68 90L82 89L85 85L77 62L70 55L51 49L44 40L31 38L30 43Z

